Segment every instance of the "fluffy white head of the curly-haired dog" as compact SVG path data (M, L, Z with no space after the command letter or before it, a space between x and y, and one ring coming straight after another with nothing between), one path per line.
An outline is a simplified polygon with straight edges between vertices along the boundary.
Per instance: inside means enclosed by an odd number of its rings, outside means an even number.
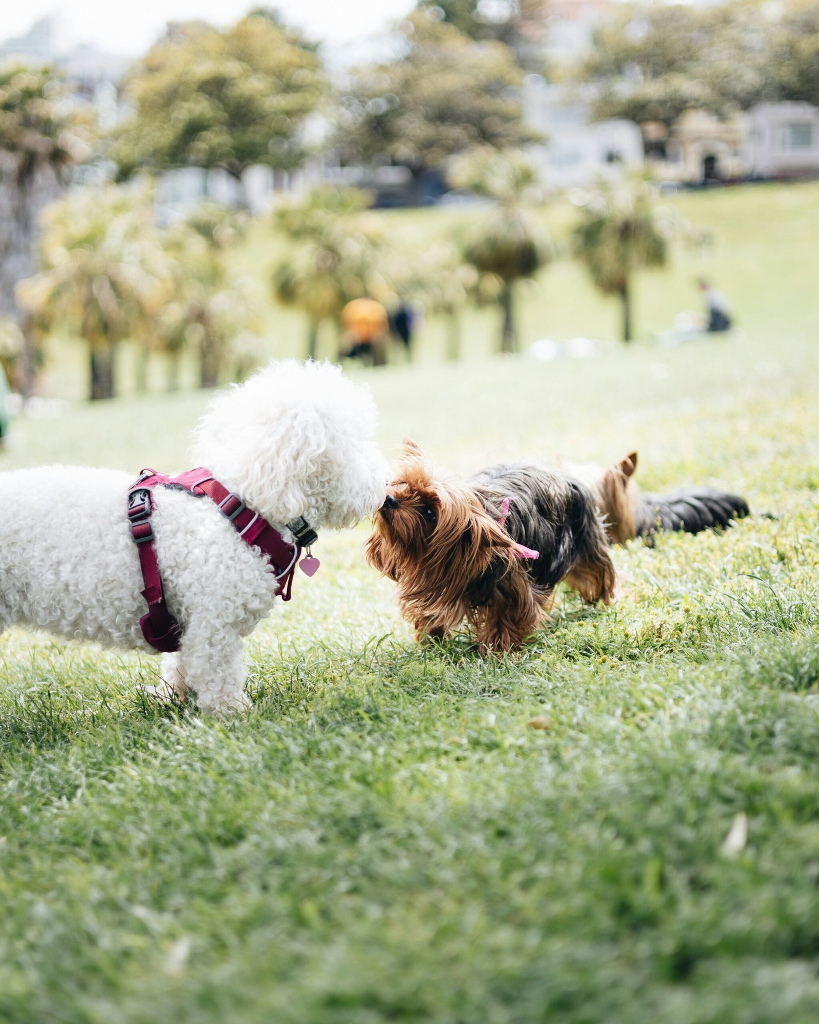
M389 470L372 440L369 388L329 362L271 362L219 393L193 456L274 523L352 526L384 502Z

